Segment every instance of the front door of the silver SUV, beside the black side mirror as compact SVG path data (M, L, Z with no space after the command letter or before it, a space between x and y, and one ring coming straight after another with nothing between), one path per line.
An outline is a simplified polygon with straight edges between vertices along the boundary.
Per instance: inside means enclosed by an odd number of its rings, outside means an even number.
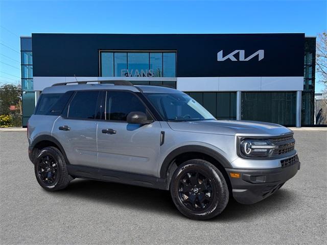
M160 150L159 121L128 124L127 115L145 104L130 91L107 91L104 119L98 124L98 166L110 170L156 176ZM150 116L150 115L149 115Z

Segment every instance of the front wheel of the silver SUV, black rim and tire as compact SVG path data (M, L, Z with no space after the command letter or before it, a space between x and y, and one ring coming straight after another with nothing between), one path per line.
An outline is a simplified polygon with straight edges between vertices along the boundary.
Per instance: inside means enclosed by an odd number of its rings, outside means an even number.
M175 170L170 193L177 209L192 219L209 219L226 207L229 191L223 174L213 164L193 159Z

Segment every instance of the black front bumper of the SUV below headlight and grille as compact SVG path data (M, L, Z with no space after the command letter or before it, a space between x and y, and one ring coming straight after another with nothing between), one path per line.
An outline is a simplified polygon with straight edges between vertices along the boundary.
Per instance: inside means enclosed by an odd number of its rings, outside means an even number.
M269 169L226 168L233 198L242 204L259 202L273 194L296 175L300 169L297 155L291 165ZM231 178L230 173L239 173L239 178Z

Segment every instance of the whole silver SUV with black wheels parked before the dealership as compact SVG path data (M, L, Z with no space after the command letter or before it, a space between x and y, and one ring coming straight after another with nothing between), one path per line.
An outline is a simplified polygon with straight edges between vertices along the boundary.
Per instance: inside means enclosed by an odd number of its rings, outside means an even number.
M283 126L216 120L171 88L98 83L42 91L28 140L46 190L74 178L170 190L182 214L208 219L230 198L252 204L269 197L300 168L293 133Z

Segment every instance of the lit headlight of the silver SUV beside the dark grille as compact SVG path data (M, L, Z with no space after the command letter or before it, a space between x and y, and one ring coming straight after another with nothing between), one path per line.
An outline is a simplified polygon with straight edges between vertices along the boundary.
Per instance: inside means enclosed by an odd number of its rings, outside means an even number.
M266 139L244 139L241 152L245 157L270 157L277 146Z

